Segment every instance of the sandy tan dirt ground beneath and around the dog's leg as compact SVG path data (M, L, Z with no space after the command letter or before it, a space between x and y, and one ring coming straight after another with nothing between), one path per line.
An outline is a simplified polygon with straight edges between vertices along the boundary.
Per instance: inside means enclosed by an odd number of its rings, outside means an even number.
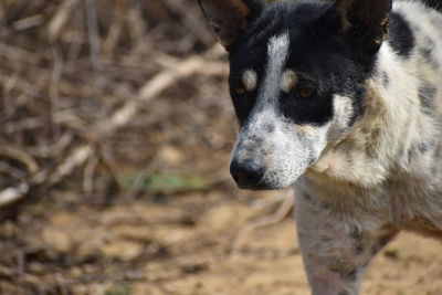
M40 280L35 294L308 294L292 218L239 236L284 196L193 193L99 211L35 204L0 228L2 239L25 236L19 247L1 244L19 263L15 280L2 282L0 267L0 293ZM401 234L372 263L361 294L442 294L441 244Z

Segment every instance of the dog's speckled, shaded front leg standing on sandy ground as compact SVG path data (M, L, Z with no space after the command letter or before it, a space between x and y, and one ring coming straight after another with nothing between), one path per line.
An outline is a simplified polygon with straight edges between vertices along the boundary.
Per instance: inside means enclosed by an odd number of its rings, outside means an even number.
M364 224L368 218L337 213L332 206L317 202L306 193L296 193L295 208L312 294L358 294L367 265L397 230L372 222Z

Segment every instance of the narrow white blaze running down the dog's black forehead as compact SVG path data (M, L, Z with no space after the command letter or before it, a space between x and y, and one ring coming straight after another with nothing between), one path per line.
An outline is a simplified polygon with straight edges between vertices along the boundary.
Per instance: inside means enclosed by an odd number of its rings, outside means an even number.
M288 32L272 36L267 45L267 64L265 67L264 83L261 99L276 99L281 89L281 76L288 55Z

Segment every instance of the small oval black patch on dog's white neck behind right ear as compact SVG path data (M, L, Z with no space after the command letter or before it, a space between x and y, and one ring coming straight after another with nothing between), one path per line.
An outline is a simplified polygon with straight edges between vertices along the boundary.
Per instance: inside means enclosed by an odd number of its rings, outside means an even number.
M414 34L407 20L397 12L390 13L389 41L393 50L402 57L409 57L414 48Z

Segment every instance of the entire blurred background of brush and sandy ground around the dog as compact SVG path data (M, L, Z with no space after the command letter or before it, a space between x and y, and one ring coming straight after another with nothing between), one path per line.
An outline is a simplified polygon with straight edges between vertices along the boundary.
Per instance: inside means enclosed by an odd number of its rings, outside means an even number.
M192 0L0 0L0 294L308 294L292 192L230 179L227 75ZM365 294L440 265L401 236Z

